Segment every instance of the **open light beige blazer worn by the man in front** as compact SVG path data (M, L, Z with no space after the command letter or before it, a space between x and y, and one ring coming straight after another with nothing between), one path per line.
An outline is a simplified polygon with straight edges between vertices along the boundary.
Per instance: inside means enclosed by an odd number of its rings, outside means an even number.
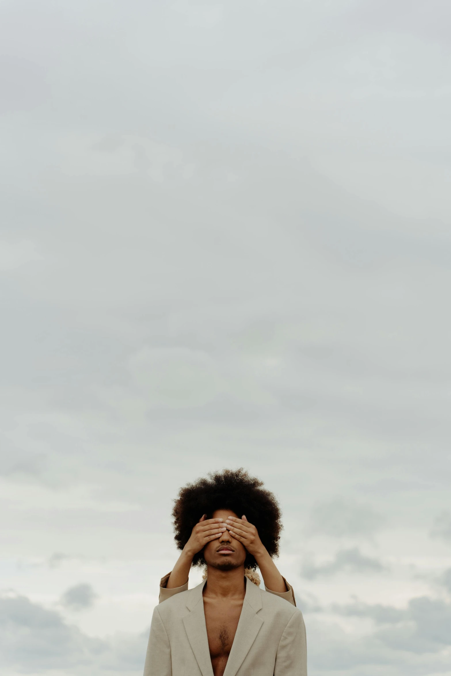
M202 591L175 594L153 610L144 676L213 676ZM246 580L224 676L306 676L302 612Z

